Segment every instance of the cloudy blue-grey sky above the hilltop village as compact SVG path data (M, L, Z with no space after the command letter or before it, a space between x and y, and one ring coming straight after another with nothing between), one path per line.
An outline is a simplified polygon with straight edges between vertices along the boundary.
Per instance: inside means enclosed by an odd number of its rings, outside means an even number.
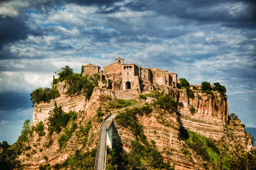
M256 128L256 4L253 1L0 1L0 141L13 144L30 93L69 65L122 57L176 72L190 84L219 82L229 112ZM55 75L56 76L56 75Z

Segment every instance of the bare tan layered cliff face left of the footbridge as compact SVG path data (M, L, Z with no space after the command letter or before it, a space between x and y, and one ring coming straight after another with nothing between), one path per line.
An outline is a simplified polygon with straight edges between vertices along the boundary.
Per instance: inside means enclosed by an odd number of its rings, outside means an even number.
M35 126L38 122L42 121L45 126L44 132L46 132L46 134L41 136L39 140L38 135L34 132L33 137L29 139L28 144L31 146L31 149L25 151L19 157L22 164L26 166L25 169L36 169L39 164L44 164L46 162L51 165L62 163L68 156L73 155L76 149L81 149L86 146L90 150L91 148L97 147L100 123L95 121L92 123L92 127L90 128L87 143L78 141L78 137L73 133L65 148L59 150L58 138L63 134L63 132L61 132L60 134L54 133L51 136L53 144L49 148L44 147L44 143L49 140L47 118L49 117L49 112L55 108L54 103L56 102L57 106L62 106L62 110L64 112L76 111L79 113L76 120L76 123L79 126L83 122L91 120L96 114L96 109L99 107L99 95L105 94L115 98L113 91L94 88L91 98L88 100L83 95L66 97L64 94L66 92L66 87L63 82L59 82L57 88L59 89L60 97L55 100L51 100L49 103L39 103L34 106L32 126ZM41 152L39 151L39 148L42 148ZM37 153L31 154L32 150L35 150ZM30 156L26 156L27 153L29 153ZM44 159L44 156L47 156L48 161Z

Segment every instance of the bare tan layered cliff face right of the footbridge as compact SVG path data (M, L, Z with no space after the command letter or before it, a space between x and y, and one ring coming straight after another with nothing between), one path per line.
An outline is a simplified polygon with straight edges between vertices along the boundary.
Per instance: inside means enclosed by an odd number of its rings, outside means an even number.
M242 145L247 151L251 150L253 146L250 136L240 121L228 120L227 97L218 92L207 94L194 90L195 98L191 99L183 89L173 91L172 95L177 102L184 104L184 108L178 108L174 113L154 108L149 116L138 116L138 120L143 126L148 142L154 140L163 158L176 164L175 169L204 169L203 164L206 163L181 140L180 126L205 135L217 143L226 142L230 152L233 146L238 145ZM190 105L196 109L194 115L189 111ZM135 138L127 128L118 126L118 130L121 132L123 147L129 152L129 142ZM191 155L184 153L183 149L188 150Z

